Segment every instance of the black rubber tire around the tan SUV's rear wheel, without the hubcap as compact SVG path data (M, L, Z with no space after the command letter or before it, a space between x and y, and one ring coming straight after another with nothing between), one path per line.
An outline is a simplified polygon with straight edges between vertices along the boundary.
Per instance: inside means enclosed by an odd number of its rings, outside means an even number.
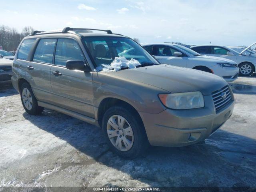
M25 106L24 100L23 100L23 98L22 98L23 90L24 90L25 88L29 91L29 93L30 93L30 95L31 95L31 97L32 97L32 108L31 108L31 109L29 109L29 108L27 108L27 107ZM20 98L21 98L22 105L23 105L24 109L26 110L26 112L27 112L28 114L31 114L31 115L38 115L38 114L42 113L42 111L44 110L43 107L38 106L36 97L34 96L34 93L33 93L32 89L31 89L30 85L29 85L28 83L26 83L26 82L25 82L25 83L22 83L22 85L21 85L21 87L20 87Z

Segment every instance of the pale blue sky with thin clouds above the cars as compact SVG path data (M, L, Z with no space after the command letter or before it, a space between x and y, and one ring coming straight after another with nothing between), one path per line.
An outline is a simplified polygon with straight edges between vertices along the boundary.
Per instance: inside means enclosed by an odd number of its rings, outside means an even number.
M0 25L110 29L141 43L249 45L255 0L1 0Z

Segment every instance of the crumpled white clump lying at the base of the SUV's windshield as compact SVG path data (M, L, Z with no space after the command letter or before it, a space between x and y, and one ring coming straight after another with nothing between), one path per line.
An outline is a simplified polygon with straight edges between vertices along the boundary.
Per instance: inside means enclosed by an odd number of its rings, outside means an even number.
M94 69L95 72L107 72L110 70L119 71L122 67L128 67L130 69L135 68L136 66L141 65L136 59L127 60L125 57L116 57L110 65L102 64Z

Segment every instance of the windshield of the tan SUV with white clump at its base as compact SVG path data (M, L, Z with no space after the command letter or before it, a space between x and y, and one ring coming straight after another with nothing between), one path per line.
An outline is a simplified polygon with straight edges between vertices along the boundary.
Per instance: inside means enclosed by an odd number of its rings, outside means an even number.
M96 36L84 37L83 40L96 68L113 65L113 62L136 63L136 67L159 64L153 56L130 38ZM128 66L124 67L130 68Z

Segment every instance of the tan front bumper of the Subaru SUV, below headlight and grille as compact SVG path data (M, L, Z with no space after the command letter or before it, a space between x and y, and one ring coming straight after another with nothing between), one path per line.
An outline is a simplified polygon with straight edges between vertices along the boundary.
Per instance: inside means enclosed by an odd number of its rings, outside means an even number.
M208 106L190 110L166 109L159 114L139 112L148 140L153 146L180 147L208 138L231 116L234 100L216 114L212 96L204 96Z

